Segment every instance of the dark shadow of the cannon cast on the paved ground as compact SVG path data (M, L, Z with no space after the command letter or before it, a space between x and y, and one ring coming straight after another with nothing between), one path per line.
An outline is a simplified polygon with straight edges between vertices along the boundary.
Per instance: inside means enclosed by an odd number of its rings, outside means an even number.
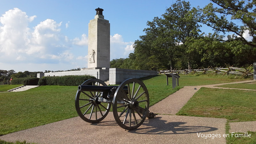
M144 123L140 126L146 126L145 128L137 128L132 131L128 131L131 133L137 134L188 134L188 133L200 133L200 132L211 132L216 131L218 128L209 127L209 126L182 126L186 124L185 122L169 122L161 120L162 117L156 117L152 119L146 119ZM99 122L92 125L100 125L100 126L116 126L116 121L107 121L107 122Z

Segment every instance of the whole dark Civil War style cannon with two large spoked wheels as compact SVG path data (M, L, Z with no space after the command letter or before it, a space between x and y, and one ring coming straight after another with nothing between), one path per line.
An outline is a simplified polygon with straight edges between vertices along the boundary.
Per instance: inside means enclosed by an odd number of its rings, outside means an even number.
M130 78L119 86L107 86L100 79L89 79L78 86L75 98L76 111L86 122L98 123L113 107L116 123L126 129L137 129L149 113L149 94L143 82Z

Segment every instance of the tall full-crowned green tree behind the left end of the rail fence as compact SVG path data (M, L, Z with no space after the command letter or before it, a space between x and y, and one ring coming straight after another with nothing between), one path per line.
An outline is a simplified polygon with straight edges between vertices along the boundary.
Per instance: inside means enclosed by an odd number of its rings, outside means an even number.
M199 36L200 26L193 14L189 2L177 0L161 18L148 21L149 27L143 30L146 35L140 36L140 40L134 43L136 69L173 69L184 54L187 38ZM180 63L184 61L188 59Z

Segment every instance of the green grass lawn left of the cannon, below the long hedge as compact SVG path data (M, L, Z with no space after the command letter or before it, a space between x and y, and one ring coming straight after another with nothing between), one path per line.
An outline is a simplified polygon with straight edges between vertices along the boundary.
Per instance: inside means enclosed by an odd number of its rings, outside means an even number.
M0 94L0 135L77 116L77 86L40 86Z

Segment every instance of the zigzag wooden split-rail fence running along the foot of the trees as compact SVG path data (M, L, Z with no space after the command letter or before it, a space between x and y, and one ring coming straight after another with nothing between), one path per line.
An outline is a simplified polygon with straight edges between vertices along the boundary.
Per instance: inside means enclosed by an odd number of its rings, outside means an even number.
M252 65L251 65L252 66ZM241 76L241 78L243 78L244 76L253 76L253 68L250 69L249 66L248 68L236 68L233 66L228 66L228 68L213 68L213 67L208 67L208 68L197 68L197 69L173 69L173 70L160 70L158 71L159 74L168 74L168 73L177 73L177 74L196 74L196 73L200 73L200 74L221 74L222 76L224 75L237 75L237 76Z

